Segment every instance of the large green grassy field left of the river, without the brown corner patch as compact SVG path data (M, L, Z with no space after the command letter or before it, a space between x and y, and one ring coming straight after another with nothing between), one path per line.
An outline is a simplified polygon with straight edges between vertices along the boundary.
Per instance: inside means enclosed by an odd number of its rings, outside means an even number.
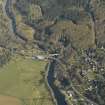
M0 94L16 97L23 105L53 105L42 75L45 66L44 61L13 58L0 69Z

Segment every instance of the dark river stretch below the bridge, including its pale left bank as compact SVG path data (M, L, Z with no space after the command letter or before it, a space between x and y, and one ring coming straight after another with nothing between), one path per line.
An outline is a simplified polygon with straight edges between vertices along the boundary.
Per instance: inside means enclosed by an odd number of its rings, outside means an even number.
M65 100L65 96L60 92L59 88L54 85L54 67L56 65L56 61L52 61L48 65L48 70L45 76L47 86L51 92L53 97L53 101L56 105L67 105Z

